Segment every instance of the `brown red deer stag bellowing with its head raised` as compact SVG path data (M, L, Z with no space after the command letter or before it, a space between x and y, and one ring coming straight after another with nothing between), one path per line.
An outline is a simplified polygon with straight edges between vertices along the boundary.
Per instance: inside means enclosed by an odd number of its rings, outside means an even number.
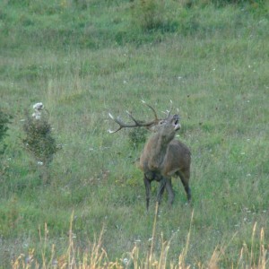
M179 116L170 115L164 119L159 119L152 106L146 104L152 109L155 119L150 122L136 120L131 113L126 111L129 117L134 121L133 124L124 123L119 117L115 118L109 113L117 124L116 131L110 131L113 134L125 127L143 126L150 129L153 134L145 144L139 161L139 168L143 170L143 181L146 189L146 208L149 209L151 183L153 180L160 182L157 201L161 203L161 195L164 188L169 193L169 204L174 201L174 191L171 184L172 177L179 177L187 193L187 200L191 200L191 190L189 187L191 153L184 143L175 139L176 132L180 129Z

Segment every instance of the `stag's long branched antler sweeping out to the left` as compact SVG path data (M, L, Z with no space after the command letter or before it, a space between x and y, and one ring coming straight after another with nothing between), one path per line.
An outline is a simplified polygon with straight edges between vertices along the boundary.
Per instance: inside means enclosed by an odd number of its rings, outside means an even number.
M126 111L127 115L129 117L131 117L131 119L134 121L134 124L126 124L125 122L123 122L120 117L114 117L113 115L111 115L110 113L108 113L108 116L113 119L117 124L118 124L118 128L117 130L115 131L112 131L112 130L108 130L108 132L110 134L114 134L114 133L117 133L117 131L121 130L122 128L131 128L131 127L150 127L152 125L157 125L159 123L159 121L161 119L158 118L157 116L157 113L155 111L154 108L152 108L151 105L147 104L144 100L142 100L143 104L145 104L146 106L148 106L149 108L152 109L153 111L153 114L154 114L154 119L150 122L144 122L143 120L137 120L134 118L134 116L129 112L129 111Z

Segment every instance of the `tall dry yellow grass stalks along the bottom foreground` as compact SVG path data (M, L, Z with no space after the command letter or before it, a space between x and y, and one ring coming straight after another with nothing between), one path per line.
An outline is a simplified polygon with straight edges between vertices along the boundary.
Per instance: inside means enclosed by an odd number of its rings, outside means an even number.
M223 267L223 260L226 258L226 250L230 243L226 246L218 246L213 250L213 254L207 263L198 262L195 265L189 265L187 263L187 252L190 243L190 235L192 231L192 222L194 219L194 211L192 212L189 231L187 233L186 246L182 249L181 253L178 254L177 263L168 262L168 253L170 248L170 242L172 238L165 241L161 238L161 252L157 254L155 251L155 241L156 241L156 224L158 221L158 204L156 203L154 221L152 226L152 239L149 246L148 253L146 253L143 258L140 253L139 247L134 245L131 252L123 254L125 258L117 259L116 261L111 261L108 258L106 250L102 247L102 239L104 237L104 229L100 231L100 235L93 243L89 243L89 246L83 250L76 247L75 236L72 231L74 213L71 216L70 230L69 230L69 243L66 247L65 253L60 256L56 256L56 246L51 247L50 253L48 254L47 241L48 241L48 226L45 223L44 233L42 235L39 229L40 241L43 244L43 251L41 259L35 256L35 250L30 249L28 254L21 254L12 263L13 269L28 269L28 268L74 268L74 269L100 269L100 268L134 268L134 269L218 269ZM256 243L256 238L259 237L258 243ZM234 235L235 237L235 235ZM234 239L230 239L230 242ZM259 247L259 254L256 256L255 248ZM268 247L268 246L267 246ZM256 223L253 227L251 245L243 244L241 251L239 253L239 258L236 262L231 262L230 265L224 265L229 268L238 269L266 269L269 265L268 249L265 245L265 230L256 230ZM227 267L228 268L228 267Z

